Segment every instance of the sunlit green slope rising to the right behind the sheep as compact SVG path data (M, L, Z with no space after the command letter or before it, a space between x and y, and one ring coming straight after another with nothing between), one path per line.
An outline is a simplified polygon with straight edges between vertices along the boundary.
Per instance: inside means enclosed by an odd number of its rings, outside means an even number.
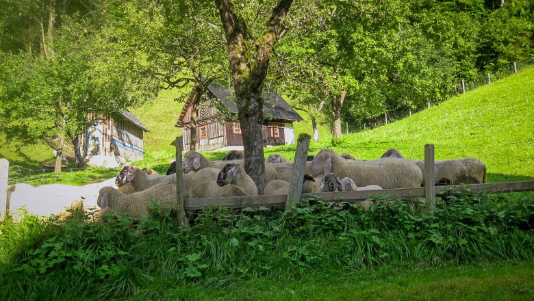
M436 159L477 157L487 165L488 181L534 177L534 69L472 90L398 122L343 135L340 146L361 159L379 158L397 148L424 158L424 144L435 144ZM310 146L310 153L325 142ZM292 157L294 146L269 149Z

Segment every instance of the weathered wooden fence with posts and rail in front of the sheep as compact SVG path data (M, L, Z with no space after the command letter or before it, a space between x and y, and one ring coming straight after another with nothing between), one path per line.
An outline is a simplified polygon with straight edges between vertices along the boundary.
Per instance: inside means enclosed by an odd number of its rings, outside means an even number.
M358 202L364 207L368 207L370 202L366 200L373 194L381 194L391 198L424 198L427 200L429 208L435 205L435 197L442 194L451 194L461 190L469 189L470 192L486 192L486 193L508 193L508 192L529 192L534 191L534 181L518 181L507 183L487 183L487 184L472 184L472 185L453 185L453 186L435 186L435 171L434 171L434 146L424 146L424 179L427 185L425 187L417 188L401 188L401 189L382 189L382 190L368 190L357 192L329 192L319 194L301 194L304 170L307 159L307 152L309 148L310 136L301 134L298 136L295 159L293 163L293 173L290 179L290 194L277 196L239 196L232 198L184 198L183 188L183 173L181 168L177 168L177 218L179 224L185 226L187 219L185 211L192 211L202 209L204 207L229 207L229 208L243 208L243 207L285 207L290 208L293 202L297 202L303 197L316 195L325 201L329 202ZM183 142L181 137L176 140L176 163L181 166ZM4 215L9 211L9 197L8 197L8 179L9 179L9 162L6 159L0 159L0 220L3 220Z

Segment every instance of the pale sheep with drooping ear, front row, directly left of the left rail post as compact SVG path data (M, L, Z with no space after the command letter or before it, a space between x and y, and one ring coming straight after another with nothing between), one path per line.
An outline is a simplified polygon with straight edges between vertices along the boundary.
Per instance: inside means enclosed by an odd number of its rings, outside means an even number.
M114 187L103 187L99 191L97 204L101 208L98 215L105 213L127 213L131 218L149 213L149 203L153 201L162 209L171 209L176 205L176 186L159 183L149 189L133 194L123 194Z

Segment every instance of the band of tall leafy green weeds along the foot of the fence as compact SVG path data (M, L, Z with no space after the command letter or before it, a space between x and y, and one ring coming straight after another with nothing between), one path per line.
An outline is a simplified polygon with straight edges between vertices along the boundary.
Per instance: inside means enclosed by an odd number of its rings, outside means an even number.
M157 299L169 285L231 285L251 276L409 263L423 267L531 259L534 205L455 194L433 214L404 200L359 205L307 198L290 211L211 208L182 229L166 212L105 225L89 216L1 225L2 300Z

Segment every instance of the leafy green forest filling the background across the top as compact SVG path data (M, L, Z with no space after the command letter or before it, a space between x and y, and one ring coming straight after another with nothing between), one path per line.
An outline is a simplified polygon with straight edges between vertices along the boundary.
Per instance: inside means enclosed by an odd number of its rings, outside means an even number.
M235 1L251 55L276 2ZM8 143L75 142L88 112L137 107L161 89L231 82L211 1L2 0L0 8ZM326 120L340 138L342 119L360 128L386 112L415 112L457 93L462 79L531 62L533 24L529 0L294 1L263 89L307 112L314 131Z

